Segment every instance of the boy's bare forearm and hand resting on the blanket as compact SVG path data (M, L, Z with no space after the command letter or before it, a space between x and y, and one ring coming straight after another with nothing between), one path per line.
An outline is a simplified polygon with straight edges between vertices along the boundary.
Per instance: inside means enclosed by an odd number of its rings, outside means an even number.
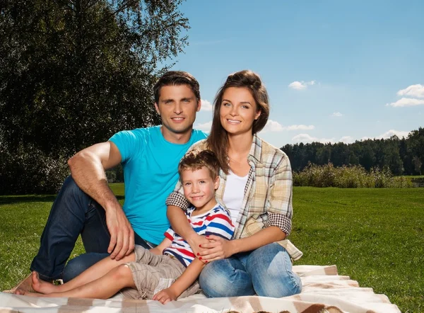
M156 295L154 295L153 300L158 300L163 305L165 305L167 302L177 300L177 297L179 297L179 295L181 295L184 290L187 290L199 277L204 266L205 265L202 261L200 261L198 258L194 258L192 263L187 266L184 273L182 273L182 275L179 276L177 280L175 280L175 283L170 285L169 288L161 290Z

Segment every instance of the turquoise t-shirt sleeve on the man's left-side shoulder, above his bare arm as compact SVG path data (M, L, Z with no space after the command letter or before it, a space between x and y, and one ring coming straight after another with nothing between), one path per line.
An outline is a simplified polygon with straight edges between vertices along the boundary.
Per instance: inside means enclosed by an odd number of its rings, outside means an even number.
M121 154L122 163L133 158L143 148L145 136L141 130L123 130L117 132L109 141L116 144Z

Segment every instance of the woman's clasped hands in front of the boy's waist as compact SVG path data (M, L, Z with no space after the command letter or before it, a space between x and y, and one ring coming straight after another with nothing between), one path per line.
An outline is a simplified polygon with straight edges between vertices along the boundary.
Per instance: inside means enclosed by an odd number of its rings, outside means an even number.
M196 254L196 257L204 263L219 260L220 258L229 258L235 254L235 240L227 240L215 235L206 236L208 243L201 244L203 251Z

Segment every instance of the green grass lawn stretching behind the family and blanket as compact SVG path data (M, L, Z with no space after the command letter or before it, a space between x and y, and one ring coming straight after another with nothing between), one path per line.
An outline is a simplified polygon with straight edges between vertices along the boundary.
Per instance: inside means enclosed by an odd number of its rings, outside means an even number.
M113 184L123 195L122 184ZM0 197L0 290L29 273L54 196ZM290 240L295 264L336 264L401 312L424 311L424 190L297 187ZM78 241L73 256L83 252Z

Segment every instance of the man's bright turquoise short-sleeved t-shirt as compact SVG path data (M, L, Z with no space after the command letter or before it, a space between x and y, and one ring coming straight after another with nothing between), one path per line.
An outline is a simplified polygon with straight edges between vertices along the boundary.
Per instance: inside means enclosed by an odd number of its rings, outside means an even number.
M167 142L160 126L117 132L110 141L122 157L125 181L124 212L134 232L160 244L170 227L165 200L178 181L178 163L190 146L206 138L193 130L189 142Z

